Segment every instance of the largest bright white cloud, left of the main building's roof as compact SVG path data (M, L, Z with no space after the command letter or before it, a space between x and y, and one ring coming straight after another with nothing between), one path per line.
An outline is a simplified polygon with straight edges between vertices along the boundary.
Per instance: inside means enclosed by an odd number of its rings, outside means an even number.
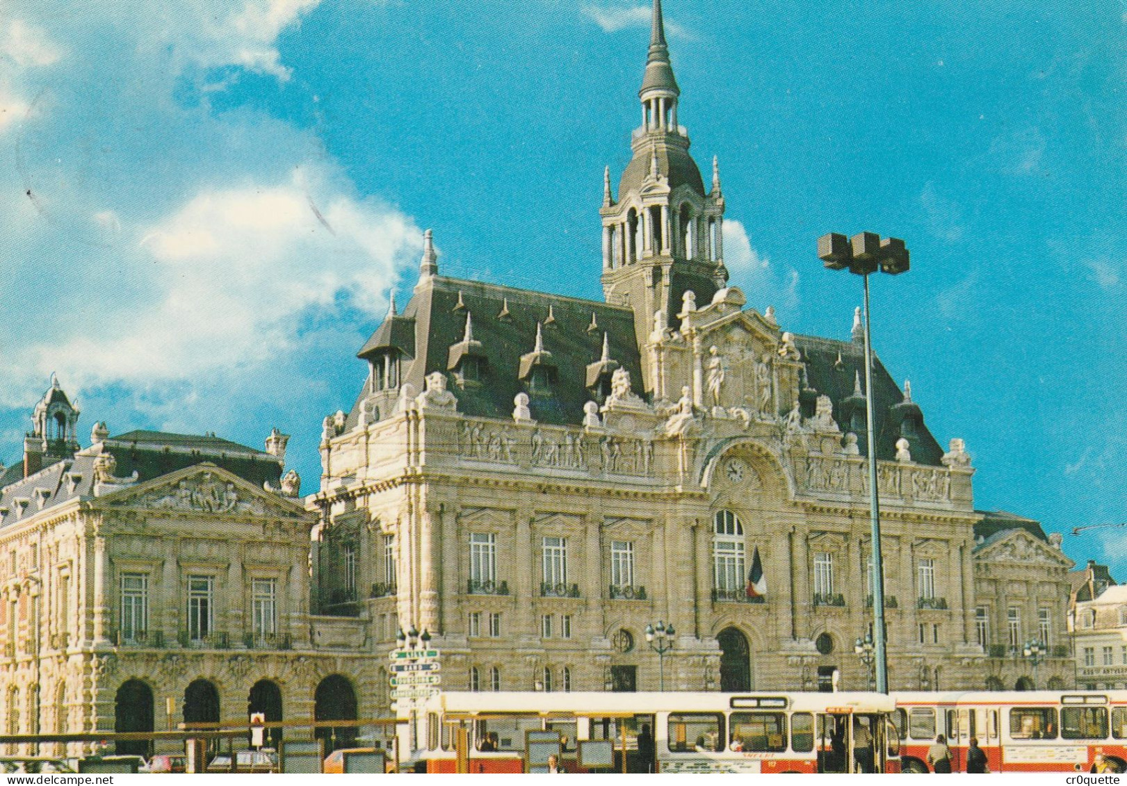
M393 208L312 179L203 191L134 230L133 271L158 294L97 303L100 330L24 348L8 378L34 387L56 368L76 386L190 381L233 366L252 374L301 351L303 320L341 298L376 318L421 233Z

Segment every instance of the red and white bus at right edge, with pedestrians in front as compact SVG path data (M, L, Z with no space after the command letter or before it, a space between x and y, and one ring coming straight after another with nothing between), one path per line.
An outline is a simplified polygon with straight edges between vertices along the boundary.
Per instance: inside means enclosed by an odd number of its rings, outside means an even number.
M1103 756L1127 771L1127 691L894 693L900 766L930 772L928 748L947 738L966 770L970 738L992 772L1088 772Z

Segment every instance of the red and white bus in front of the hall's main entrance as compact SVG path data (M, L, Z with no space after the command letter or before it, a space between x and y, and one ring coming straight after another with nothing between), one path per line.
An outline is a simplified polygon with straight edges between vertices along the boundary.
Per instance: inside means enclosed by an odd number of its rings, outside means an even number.
M894 709L870 693L447 691L405 725L400 765L524 772L551 751L568 771L895 772Z

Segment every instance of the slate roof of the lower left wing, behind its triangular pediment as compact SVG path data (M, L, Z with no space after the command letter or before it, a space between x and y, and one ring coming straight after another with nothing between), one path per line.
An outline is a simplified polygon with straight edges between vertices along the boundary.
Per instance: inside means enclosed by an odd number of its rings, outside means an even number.
M128 431L106 439L100 448L95 445L80 450L28 477L23 476L23 463L9 467L0 477L0 527L76 498L91 497L94 462L103 452L113 454L117 461L116 476L130 477L135 471L139 483L204 462L221 466L256 486L266 481L277 485L282 475L282 463L276 456L214 435ZM26 503L21 506L24 500Z

